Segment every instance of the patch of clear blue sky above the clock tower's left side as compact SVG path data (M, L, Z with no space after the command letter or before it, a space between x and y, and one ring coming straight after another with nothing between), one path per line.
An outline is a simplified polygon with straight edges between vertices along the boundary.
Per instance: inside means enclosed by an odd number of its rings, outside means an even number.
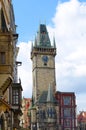
M17 32L20 41L32 40L37 32L40 22L52 24L57 0L34 0L21 2L13 0Z

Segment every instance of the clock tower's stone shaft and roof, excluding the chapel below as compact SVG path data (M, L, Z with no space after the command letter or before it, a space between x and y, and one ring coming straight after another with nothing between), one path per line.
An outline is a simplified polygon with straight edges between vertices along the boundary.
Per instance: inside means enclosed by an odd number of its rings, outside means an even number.
M32 44L32 75L34 102L37 102L43 91L47 91L49 84L52 86L53 93L56 91L55 78L55 56L56 45L53 40L51 45L45 24L40 24L34 45Z

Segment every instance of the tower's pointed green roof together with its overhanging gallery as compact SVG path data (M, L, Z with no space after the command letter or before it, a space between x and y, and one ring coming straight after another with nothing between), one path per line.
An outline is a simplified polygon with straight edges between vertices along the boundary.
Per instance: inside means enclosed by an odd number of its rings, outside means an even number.
M45 24L40 24L37 35L35 37L34 44L31 47L31 59L34 54L48 54L56 55L56 43L55 38L53 39L53 45L51 45L48 31Z

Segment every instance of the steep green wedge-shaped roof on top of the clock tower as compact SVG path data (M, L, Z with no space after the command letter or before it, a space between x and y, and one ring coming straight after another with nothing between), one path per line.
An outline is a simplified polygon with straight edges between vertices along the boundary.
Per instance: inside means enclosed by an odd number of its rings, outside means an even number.
M35 46L37 47L51 47L51 42L47 32L45 24L40 24L39 30L37 32L37 37L35 39Z

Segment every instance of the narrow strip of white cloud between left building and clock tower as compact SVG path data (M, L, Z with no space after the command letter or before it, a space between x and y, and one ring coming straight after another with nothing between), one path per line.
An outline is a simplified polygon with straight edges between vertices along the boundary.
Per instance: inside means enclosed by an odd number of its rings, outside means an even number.
M31 42L19 43L18 60L22 66L18 68L18 75L22 82L23 96L31 97L32 95L32 63L30 60Z

